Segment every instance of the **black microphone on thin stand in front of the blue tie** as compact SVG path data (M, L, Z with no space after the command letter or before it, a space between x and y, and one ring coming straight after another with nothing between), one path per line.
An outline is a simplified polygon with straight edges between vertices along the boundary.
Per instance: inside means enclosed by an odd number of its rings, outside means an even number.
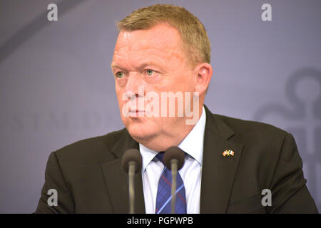
M184 165L185 152L178 147L169 147L163 157L164 164L172 171L172 214L175 214L176 201L176 175L178 170Z

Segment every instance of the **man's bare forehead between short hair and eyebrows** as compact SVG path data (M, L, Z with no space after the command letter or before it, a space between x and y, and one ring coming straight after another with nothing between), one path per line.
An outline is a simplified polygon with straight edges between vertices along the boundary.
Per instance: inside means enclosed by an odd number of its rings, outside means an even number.
M152 28L121 31L118 35L114 60L118 56L151 53L170 56L180 53L180 33L168 24L157 24Z

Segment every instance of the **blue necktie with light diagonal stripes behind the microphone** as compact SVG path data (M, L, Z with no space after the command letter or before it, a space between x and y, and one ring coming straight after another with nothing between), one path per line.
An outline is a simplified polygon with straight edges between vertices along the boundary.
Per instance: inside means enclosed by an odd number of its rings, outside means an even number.
M157 159L164 164L163 156L164 152L158 152L158 154L156 155ZM185 187L179 172L177 172L176 181L175 213L186 214ZM156 196L156 214L170 214L172 212L171 187L172 172L168 170L168 168L164 164L164 169L158 182L158 190Z

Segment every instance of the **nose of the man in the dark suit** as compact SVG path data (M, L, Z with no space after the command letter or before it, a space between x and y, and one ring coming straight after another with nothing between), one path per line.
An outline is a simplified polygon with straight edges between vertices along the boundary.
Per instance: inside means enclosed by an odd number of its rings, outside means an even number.
M143 76L138 72L129 73L125 95L128 98L143 97L145 82Z

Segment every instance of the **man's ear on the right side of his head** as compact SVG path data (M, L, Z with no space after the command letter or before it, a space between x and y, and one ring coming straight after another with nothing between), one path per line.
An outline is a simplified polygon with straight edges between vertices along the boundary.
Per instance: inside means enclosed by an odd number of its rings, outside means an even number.
M200 63L195 67L195 91L201 95L205 95L210 78L212 78L213 68L209 63Z

